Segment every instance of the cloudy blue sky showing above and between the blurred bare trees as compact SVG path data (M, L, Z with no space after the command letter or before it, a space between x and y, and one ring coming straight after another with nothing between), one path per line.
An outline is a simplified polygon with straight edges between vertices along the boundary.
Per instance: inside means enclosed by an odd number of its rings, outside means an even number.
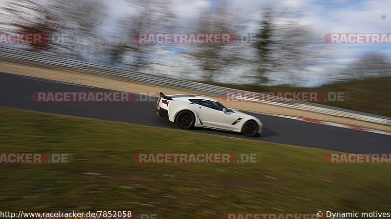
M135 13L130 0L104 1L108 7L107 19L101 26L100 33L115 36L118 30L118 20L126 19ZM377 51L391 61L391 43L389 44L331 44L326 43L328 33L391 33L391 0L227 0L230 10L245 20L243 28L246 33L257 33L261 21L261 11L264 7L277 10L296 12L299 17L294 22L312 30L322 48L327 51L327 58L306 73L302 86L318 86L332 81L330 72L339 69L360 58L360 56ZM217 0L167 0L176 16L176 33L195 32L191 29L200 12L216 6ZM131 22L131 20L129 20ZM242 30L242 31L243 31ZM152 73L182 77L200 74L196 63L182 55L192 45L158 46L154 51ZM186 69L183 66L186 66ZM190 71L190 72L189 72ZM227 71L221 82L241 81L251 69L248 66L238 66ZM275 75L277 83L289 82L289 79ZM194 78L191 78L194 79ZM225 81L224 81L225 80Z

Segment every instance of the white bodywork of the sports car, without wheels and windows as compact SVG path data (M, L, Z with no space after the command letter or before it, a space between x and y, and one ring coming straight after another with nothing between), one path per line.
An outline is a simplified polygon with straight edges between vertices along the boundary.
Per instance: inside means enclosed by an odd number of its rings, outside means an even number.
M156 107L158 114L162 117L166 117L165 111L167 111L168 119L171 122L175 122L175 116L178 114L178 112L182 110L190 110L195 115L195 127L241 132L243 125L247 121L254 120L258 123L259 126L258 133L261 134L262 132L263 125L261 120L257 117L240 112L239 110L228 108L226 108L227 112L224 113L223 111L215 110L189 101L189 99L191 99L217 102L217 100L211 97L195 94L177 94L166 97L172 99L166 99L166 101L168 101L168 106L167 104L163 103L163 100L165 99L160 97Z

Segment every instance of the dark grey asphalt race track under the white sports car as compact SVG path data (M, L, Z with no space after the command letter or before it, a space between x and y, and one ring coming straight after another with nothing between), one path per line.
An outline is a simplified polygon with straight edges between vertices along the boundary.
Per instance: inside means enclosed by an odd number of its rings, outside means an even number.
M34 91L107 90L0 73L0 106L179 129L174 123L159 117L154 112L155 98L153 101L129 103L37 103L31 99ZM261 119L264 128L260 137L247 138L239 133L212 129L197 128L190 131L343 152L391 152L390 135L331 127L260 113L248 113Z

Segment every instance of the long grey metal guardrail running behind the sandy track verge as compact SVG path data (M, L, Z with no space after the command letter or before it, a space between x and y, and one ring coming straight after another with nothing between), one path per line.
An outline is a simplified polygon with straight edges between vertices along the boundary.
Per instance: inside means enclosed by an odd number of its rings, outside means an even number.
M246 92L246 91L224 88L224 87L203 84L203 83L198 83L193 81L167 78L167 77L162 77L154 74L139 73L129 69L102 66L98 64L92 64L88 62L62 58L53 55L34 53L34 52L29 52L29 51L14 49L14 48L0 47L0 56L20 59L20 60L40 62L44 64L56 65L56 66L67 67L76 70L82 70L82 71L99 73L99 74L121 76L132 80L151 83L155 85L162 85L165 87L182 88L186 90L205 92L205 93L211 93L217 95L220 95L224 92ZM259 100L254 100L254 101L259 101ZM320 112L329 115L342 116L342 117L348 117L348 118L358 119L362 121L369 121L374 123L391 125L390 117L379 116L379 115L358 112L353 110L334 108L334 107L329 107L320 104L301 102L301 101L291 101L291 100L283 101L283 102L269 102L269 101L261 101L261 102L278 105L282 107Z

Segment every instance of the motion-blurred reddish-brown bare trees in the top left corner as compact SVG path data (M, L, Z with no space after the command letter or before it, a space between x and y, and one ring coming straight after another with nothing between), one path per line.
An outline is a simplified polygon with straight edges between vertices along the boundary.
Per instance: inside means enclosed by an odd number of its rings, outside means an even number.
M105 5L99 0L21 0L1 5L2 24L9 32L41 33L46 43L30 43L28 50L51 51L83 59L82 51L91 50L96 27L104 18ZM10 16L12 15L12 16ZM51 36L67 35L67 41L52 40Z

